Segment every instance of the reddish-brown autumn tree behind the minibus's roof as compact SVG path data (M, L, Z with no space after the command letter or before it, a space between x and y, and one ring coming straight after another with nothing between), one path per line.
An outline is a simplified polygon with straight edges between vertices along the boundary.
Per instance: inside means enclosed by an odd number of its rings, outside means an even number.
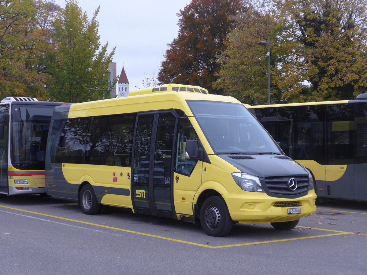
M218 55L224 51L226 35L233 29L229 16L242 11L242 0L192 0L180 10L179 33L168 44L159 82L210 88L221 65ZM211 93L222 94L222 90L214 88Z

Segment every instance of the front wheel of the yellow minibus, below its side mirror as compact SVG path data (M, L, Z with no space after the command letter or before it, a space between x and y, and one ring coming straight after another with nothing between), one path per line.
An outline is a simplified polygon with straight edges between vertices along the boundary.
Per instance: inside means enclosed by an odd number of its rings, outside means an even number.
M233 220L222 197L209 197L203 202L200 208L200 224L209 236L222 237L231 231Z

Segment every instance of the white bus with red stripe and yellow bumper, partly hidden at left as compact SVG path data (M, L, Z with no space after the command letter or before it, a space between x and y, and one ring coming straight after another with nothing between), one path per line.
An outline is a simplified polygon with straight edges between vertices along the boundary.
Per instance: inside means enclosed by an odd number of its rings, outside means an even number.
M54 107L8 97L0 103L0 194L46 194L45 152Z

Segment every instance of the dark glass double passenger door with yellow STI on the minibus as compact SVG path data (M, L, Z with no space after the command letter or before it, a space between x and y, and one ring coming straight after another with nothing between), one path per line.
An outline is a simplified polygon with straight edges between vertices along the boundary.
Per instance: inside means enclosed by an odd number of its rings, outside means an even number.
M173 158L177 114L138 113L131 190L136 213L174 217Z

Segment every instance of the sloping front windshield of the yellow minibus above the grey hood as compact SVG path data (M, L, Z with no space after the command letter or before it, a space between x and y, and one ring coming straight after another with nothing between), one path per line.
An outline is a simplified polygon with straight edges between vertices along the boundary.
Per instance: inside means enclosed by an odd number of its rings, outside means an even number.
M281 154L242 104L195 100L188 104L216 154Z

